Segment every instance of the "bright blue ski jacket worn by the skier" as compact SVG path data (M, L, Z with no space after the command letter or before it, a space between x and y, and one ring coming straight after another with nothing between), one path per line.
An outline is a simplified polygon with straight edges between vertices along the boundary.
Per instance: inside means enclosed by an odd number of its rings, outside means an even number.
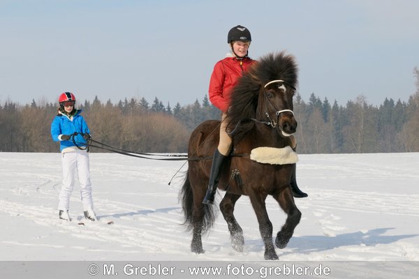
M60 142L60 151L67 147L75 146L73 140L59 140L59 135L75 135L74 140L78 146L86 146L86 140L83 139L83 134L90 134L89 127L83 116L80 115L82 110L78 110L73 116L67 116L59 112L51 123L51 136L54 142Z

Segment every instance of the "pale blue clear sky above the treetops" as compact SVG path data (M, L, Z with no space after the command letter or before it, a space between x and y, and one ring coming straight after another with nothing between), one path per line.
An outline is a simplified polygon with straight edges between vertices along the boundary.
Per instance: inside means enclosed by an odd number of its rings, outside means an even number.
M251 31L253 59L285 50L298 90L346 105L416 92L416 0L0 0L0 104L155 97L203 100L228 30Z

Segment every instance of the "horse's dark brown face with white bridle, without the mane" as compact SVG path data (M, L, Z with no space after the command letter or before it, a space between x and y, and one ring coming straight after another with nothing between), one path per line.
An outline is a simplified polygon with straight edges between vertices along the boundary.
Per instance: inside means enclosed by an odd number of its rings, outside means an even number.
M277 128L284 137L293 135L297 121L293 112L295 87L284 80L267 82L259 95L257 114L267 120L267 125Z

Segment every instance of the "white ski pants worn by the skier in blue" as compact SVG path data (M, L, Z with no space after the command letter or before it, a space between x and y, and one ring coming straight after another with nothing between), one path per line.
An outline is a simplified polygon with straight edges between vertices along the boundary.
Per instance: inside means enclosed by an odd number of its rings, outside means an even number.
M82 199L83 211L93 209L93 200L91 199L91 183L89 154L84 150L76 150L61 153L61 162L63 166L63 185L59 193L59 210L68 210L70 207L70 197L73 192L75 173L78 174L80 183L80 197Z

